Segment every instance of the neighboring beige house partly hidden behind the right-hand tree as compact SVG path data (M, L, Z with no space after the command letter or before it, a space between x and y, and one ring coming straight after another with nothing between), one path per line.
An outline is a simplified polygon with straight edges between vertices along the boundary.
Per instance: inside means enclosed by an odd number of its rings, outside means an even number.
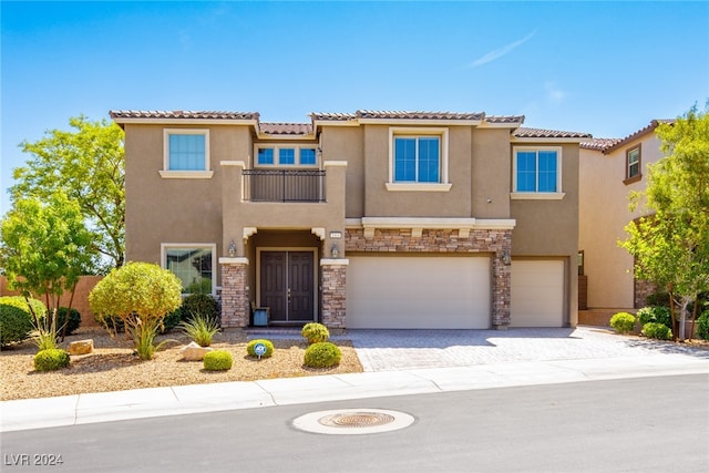
M659 123L625 138L580 144L579 273L587 280L588 309L637 309L653 291L634 278L633 257L618 241L628 237L626 225L643 216L641 208L630 213L629 194L645 191L647 166L662 157L655 135Z

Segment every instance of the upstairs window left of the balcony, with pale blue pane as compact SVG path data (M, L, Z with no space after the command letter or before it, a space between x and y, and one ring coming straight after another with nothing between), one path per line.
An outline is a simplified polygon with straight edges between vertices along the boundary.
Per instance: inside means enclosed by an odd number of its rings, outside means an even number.
M165 178L209 178L209 130L163 130L163 168Z

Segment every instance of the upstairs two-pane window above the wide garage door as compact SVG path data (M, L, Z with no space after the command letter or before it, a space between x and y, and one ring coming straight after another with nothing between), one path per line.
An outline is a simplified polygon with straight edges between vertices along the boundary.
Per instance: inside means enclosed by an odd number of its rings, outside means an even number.
M448 192L448 128L390 127L387 189Z

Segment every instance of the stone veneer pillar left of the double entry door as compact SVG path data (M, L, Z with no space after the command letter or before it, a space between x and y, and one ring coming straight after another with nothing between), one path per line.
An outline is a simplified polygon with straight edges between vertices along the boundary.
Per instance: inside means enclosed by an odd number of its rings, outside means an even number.
M249 298L245 263L222 263L222 327L247 327Z

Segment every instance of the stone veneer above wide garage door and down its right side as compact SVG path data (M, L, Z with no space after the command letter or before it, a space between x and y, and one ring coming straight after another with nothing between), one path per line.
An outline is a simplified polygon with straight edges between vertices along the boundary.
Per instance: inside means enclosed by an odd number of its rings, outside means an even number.
M361 228L348 228L347 253L492 253L492 326L504 329L510 325L512 274L502 263L503 253L512 254L512 230L474 229L460 236L455 229L424 229L413 236L410 228L377 229L373 238L366 238Z

